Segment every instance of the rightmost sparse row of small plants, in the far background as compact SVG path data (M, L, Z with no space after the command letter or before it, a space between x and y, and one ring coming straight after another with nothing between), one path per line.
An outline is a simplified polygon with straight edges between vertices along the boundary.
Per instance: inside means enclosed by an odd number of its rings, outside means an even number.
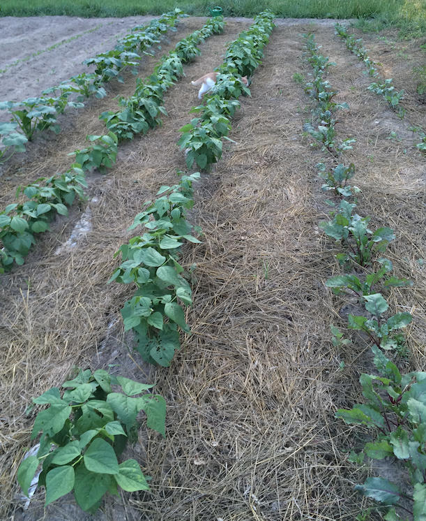
M347 32L346 27L342 24L335 24L336 34L344 40L347 48L355 54L360 61L363 61L365 66L368 68L368 75L372 76L372 78L376 78L376 81L373 82L368 90L374 92L375 94L379 94L379 96L383 96L388 102L389 108L395 110L397 115L403 119L406 110L400 106L400 101L404 98L404 89L397 91L395 86L393 85L392 78L381 78L379 75L379 71L376 69L376 65L381 65L378 62L372 60L368 56L368 50L363 45L363 39L356 39L354 36Z

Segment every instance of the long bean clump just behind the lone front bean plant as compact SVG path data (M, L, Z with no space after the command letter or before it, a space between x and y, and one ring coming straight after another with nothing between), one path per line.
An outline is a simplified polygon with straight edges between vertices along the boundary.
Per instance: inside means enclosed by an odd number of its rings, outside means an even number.
M180 173L183 174L183 173ZM144 233L132 238L116 253L123 263L109 282L135 284L135 296L121 310L125 330L135 332L136 349L151 364L169 366L180 348L178 328L190 332L184 306L192 304L192 291L179 261L185 241L199 243L187 212L194 205L192 183L199 173L182 175L174 186L162 186L155 201L135 217L129 230L142 226ZM187 276L188 277L188 276Z

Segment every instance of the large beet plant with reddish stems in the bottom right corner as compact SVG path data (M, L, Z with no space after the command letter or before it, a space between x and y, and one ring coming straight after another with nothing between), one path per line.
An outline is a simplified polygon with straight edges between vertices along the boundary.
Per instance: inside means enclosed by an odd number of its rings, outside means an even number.
M366 403L355 404L351 410L339 409L336 417L365 425L375 434L376 440L365 443L356 460L362 461L364 455L373 460L395 458L411 483L402 491L386 478L367 478L355 488L386 507L387 521L422 521L426 515L426 373L401 374L379 348L372 349L380 376L361 375Z

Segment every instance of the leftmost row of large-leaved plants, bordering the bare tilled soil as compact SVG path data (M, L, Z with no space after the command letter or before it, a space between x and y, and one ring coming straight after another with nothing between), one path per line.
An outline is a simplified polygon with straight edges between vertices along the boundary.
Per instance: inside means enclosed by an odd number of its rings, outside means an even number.
M134 27L131 34L118 41L114 50L83 61L87 66L96 65L93 73L82 73L68 82L45 89L40 97L1 101L0 110L7 110L11 121L0 123L0 138L3 138L0 161L6 161L14 152L25 152L25 143L46 129L59 133L61 127L56 122L57 115L63 114L67 107L84 107L84 99L93 94L97 98L106 96L103 85L112 78L123 82L125 68L131 67L132 72L137 74L135 60L141 59L141 54L150 54L147 49L160 43L160 37L168 29L176 31L175 25L183 16L187 15L176 8L148 25ZM77 95L76 101L70 101L73 95Z

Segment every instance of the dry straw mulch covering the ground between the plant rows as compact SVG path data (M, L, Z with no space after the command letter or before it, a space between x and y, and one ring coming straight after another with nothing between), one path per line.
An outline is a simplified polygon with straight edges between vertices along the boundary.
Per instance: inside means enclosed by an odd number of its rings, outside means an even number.
M36 413L27 417L25 409L34 395L60 386L73 366L105 367L110 360L118 360L122 367L116 370L130 378L156 383L155 391L167 401L167 437L142 428L133 457L152 476L152 492L123 494L117 504L107 500L96 519L352 520L360 513L353 487L372 469L347 462L347 452L360 450L370 434L334 414L363 399L358 378L371 370L371 359L365 341L347 330L344 309L350 302L325 286L340 268L334 258L338 250L318 228L328 207L314 166L330 161L302 135L312 104L292 79L296 72L310 73L301 58L301 33L313 31L321 52L337 63L328 80L340 91L338 101L350 107L339 113L337 131L357 140L344 161L356 165L354 182L363 190L358 210L372 216L372 226L395 229L397 240L387 256L397 276L414 282L413 288L386 294L393 311L407 309L414 317L406 331L411 357L397 359L405 371L426 365L426 270L418 262L426 259L426 163L409 123L365 90L369 78L363 64L326 22L278 25L273 31L252 78L252 96L241 98L234 118L229 137L235 143L225 147L222 161L199 184L192 219L204 230L203 244L183 249L183 264L197 263L195 305L188 312L192 335L183 338L169 369L148 369L128 351L119 310L132 289L106 282L117 263L114 252L131 237L126 229L144 201L161 185L176 182L176 168L185 170L176 142L198 103L190 80L218 66L225 44L249 21L229 21L225 34L201 45L201 57L185 67L186 78L165 96L169 115L163 126L121 145L107 176L89 175L91 202L74 205L70 219L55 221L22 267L1 276L4 518L56 521L79 515L65 503L44 513L43 491L22 512L15 476L24 448L31 446ZM162 52L201 24L185 20ZM414 46L406 53L404 67L417 59ZM142 78L154 63L155 58L146 60ZM395 78L405 87L410 80L404 83L397 75L400 66L395 58ZM114 96L134 89L132 75L125 85L112 83L107 98L68 112L63 132L39 138L19 161L6 163L1 207L20 184L68 168L67 154L84 145L85 135L105 131L100 112L116 107ZM415 96L407 96L405 106L410 122L423 124L426 110ZM399 140L388 139L391 131ZM55 255L87 207L91 231L77 247ZM330 323L353 344L333 347ZM383 472L405 479L393 464Z

